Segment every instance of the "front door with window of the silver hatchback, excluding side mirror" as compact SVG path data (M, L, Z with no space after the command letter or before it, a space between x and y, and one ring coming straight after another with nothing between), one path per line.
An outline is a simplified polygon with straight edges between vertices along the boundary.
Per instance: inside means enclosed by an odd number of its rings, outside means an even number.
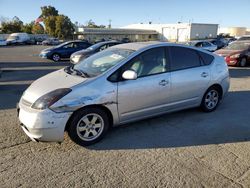
M118 82L118 111L121 122L140 119L168 109L170 72L165 48L150 49L128 62L126 70L137 72L136 80Z

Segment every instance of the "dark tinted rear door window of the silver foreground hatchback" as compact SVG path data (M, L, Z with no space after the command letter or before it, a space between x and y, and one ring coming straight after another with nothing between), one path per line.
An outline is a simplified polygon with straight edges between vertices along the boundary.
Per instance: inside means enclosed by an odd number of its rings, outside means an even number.
M189 48L172 46L171 54L171 71L199 67L201 65L198 53Z

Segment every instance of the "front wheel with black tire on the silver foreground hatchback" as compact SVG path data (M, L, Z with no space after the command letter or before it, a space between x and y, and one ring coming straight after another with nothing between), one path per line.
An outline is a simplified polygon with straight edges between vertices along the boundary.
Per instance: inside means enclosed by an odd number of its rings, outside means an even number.
M69 124L68 134L76 144L88 146L99 142L108 128L109 119L105 111L91 107L74 114Z

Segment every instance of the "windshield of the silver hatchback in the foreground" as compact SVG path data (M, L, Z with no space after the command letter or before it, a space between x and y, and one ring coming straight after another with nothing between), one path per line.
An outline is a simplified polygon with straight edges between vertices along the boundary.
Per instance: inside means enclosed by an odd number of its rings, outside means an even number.
M74 69L84 72L90 77L95 77L121 62L133 52L133 50L127 49L107 49L82 60L74 66Z

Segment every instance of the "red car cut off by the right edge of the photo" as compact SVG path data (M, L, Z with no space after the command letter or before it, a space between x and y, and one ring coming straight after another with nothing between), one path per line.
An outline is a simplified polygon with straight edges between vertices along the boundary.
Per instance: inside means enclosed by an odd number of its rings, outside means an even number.
M228 65L245 67L250 62L250 40L232 42L215 53L224 57Z

